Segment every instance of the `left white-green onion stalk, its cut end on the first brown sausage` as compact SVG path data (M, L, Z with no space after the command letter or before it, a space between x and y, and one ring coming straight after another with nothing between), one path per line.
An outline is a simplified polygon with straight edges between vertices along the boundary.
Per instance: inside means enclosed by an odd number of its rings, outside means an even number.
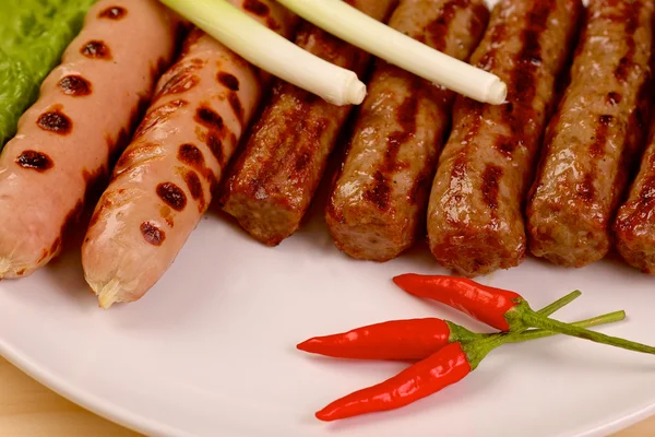
M225 0L160 0L250 63L334 105L359 105L366 85L271 31Z

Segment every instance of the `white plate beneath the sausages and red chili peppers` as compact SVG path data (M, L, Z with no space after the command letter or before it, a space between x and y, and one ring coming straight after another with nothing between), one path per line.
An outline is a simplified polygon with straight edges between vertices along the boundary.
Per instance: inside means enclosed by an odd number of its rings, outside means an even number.
M78 249L20 281L0 283L0 354L73 401L151 435L222 437L599 436L655 411L655 357L552 338L495 351L464 381L395 412L324 424L314 411L405 364L309 356L312 335L454 310L396 288L403 272L441 272L427 248L377 264L340 253L320 208L276 249L225 217L204 220L140 303L103 311ZM485 279L535 307L573 288L557 316L624 308L604 332L655 343L655 280L618 261L582 270L528 260Z

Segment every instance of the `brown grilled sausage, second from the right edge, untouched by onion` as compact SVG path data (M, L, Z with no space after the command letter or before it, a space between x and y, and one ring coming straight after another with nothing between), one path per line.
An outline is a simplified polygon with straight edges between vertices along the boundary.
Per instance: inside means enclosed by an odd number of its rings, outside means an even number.
M527 206L531 251L565 267L600 260L642 145L653 55L653 0L595 0L571 84L549 123Z

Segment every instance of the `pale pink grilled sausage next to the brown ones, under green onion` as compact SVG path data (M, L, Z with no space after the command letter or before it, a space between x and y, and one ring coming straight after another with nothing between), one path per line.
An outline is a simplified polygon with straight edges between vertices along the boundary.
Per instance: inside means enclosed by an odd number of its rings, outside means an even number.
M295 17L273 0L235 0L290 36ZM157 84L118 160L82 246L100 306L141 298L166 272L212 200L267 75L199 29Z

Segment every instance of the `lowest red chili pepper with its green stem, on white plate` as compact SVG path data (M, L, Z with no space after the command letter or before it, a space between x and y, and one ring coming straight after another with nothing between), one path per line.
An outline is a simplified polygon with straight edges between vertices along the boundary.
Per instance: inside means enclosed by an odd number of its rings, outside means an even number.
M617 311L576 322L581 327L610 323L626 318ZM394 410L436 393L462 380L474 370L493 349L553 335L546 330L516 334L492 334L469 343L451 343L398 375L377 386L356 391L332 402L315 415L321 421L337 421L360 414Z

